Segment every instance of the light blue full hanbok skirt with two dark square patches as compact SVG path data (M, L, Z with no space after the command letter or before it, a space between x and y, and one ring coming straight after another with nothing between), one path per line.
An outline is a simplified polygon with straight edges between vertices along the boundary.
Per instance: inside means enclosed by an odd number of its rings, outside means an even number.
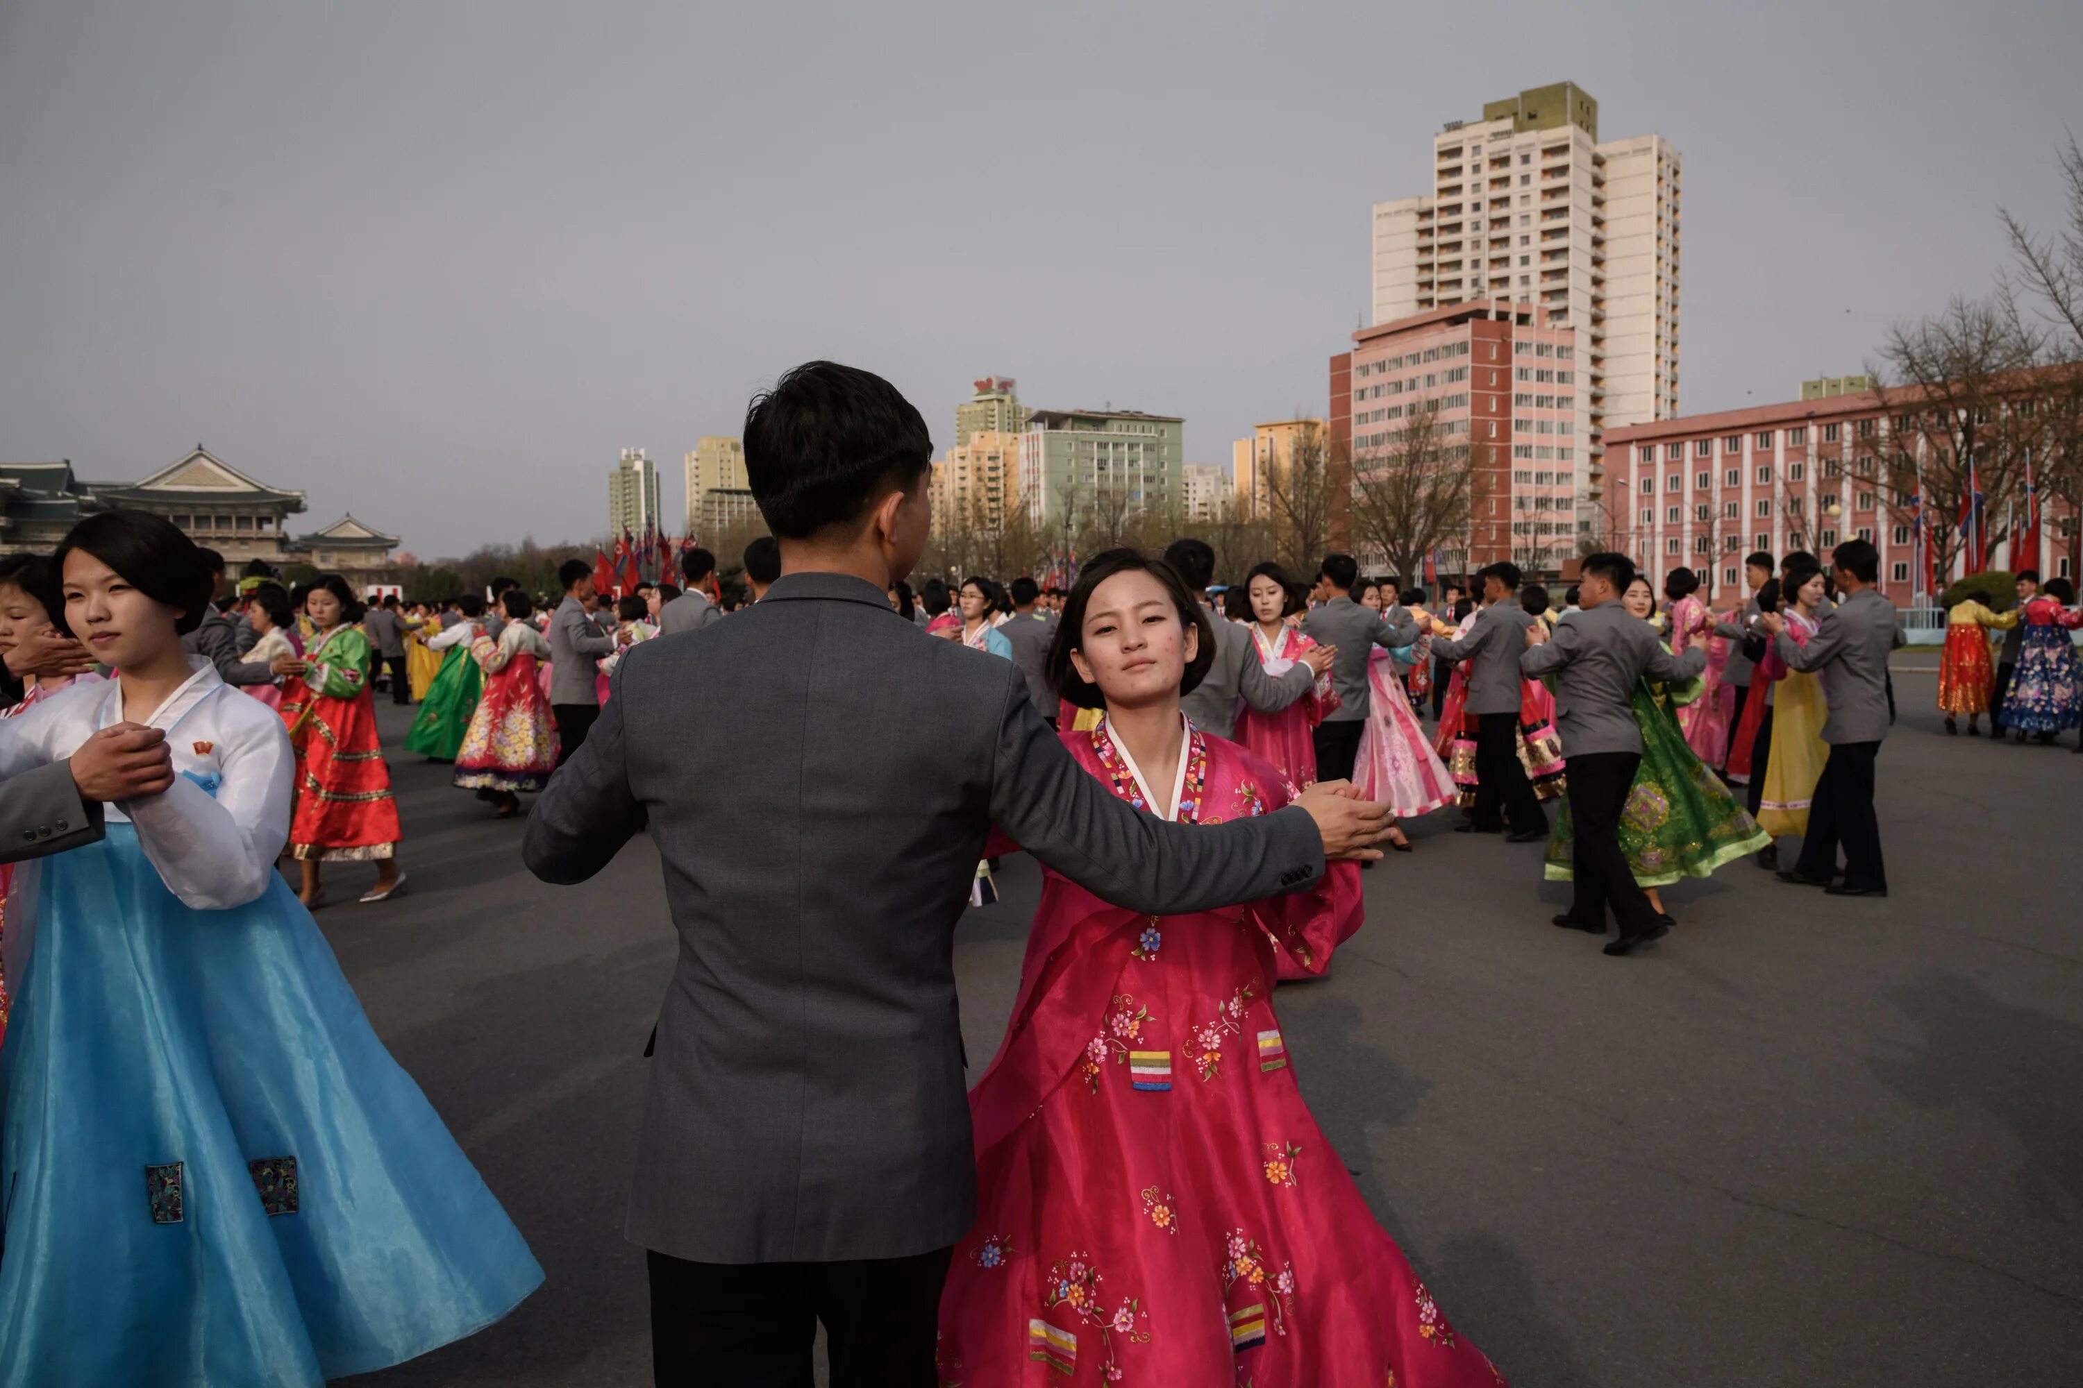
M40 897L0 1047L0 1386L319 1384L542 1284L287 882L196 911L110 824Z

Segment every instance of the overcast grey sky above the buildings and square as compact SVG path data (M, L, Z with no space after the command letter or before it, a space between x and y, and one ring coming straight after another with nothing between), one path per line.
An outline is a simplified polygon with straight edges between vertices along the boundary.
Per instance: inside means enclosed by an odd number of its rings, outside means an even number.
M1698 12L1693 12L1698 10ZM1369 206L1573 79L1685 158L1679 404L1785 400L2056 216L2083 6L0 0L0 458L196 441L421 556L606 524L831 356L1325 410Z

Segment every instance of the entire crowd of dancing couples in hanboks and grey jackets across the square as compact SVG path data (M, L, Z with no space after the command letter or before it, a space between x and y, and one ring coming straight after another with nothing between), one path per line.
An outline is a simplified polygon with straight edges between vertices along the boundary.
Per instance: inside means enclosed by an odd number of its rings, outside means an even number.
M1752 554L1725 610L1621 554L1556 601L1502 562L1469 593L1344 554L1216 583L1198 539L914 593L929 454L877 377L783 377L746 422L777 539L744 603L704 549L619 597L573 562L539 597L221 599L133 512L0 562L0 826L73 768L0 868L0 1384L317 1384L542 1282L312 924L327 862L406 886L379 689L419 703L404 753L496 818L533 799L537 876L635 832L664 859L629 1213L658 1382L808 1382L817 1323L842 1386L1502 1382L1310 1115L1275 988L1450 807L1541 843L1554 924L1616 926L1610 955L1741 857L1885 895L1873 547ZM1948 728L2079 724L2075 593L2021 599L1950 612ZM1023 851L1019 999L964 1103L948 939Z

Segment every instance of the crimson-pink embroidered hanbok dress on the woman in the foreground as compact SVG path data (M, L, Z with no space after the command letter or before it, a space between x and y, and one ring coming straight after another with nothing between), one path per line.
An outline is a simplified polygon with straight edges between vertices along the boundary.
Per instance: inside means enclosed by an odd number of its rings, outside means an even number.
M1287 801L1250 751L1191 724L1185 739L1181 822ZM1106 726L1062 741L1114 795L1150 803ZM942 1382L1504 1382L1448 1326L1296 1086L1275 957L1358 911L1352 864L1308 893L1169 918L1048 874L1012 1022L969 1095L979 1213L939 1303Z

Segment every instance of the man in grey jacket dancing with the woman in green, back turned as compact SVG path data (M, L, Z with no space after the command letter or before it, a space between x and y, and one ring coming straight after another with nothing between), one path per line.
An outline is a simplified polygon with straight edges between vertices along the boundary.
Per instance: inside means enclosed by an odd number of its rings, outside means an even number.
M1610 905L1621 939L1606 945L1608 955L1631 953L1671 930L1671 918L1650 907L1621 851L1621 812L1641 766L1635 685L1643 674L1689 680L1706 668L1706 651L1673 656L1654 626L1621 606L1633 581L1635 564L1625 554L1589 556L1577 583L1581 610L1554 635L1541 622L1527 624L1514 656L1527 678L1556 676L1556 726L1568 760L1575 893L1554 924L1604 934Z

